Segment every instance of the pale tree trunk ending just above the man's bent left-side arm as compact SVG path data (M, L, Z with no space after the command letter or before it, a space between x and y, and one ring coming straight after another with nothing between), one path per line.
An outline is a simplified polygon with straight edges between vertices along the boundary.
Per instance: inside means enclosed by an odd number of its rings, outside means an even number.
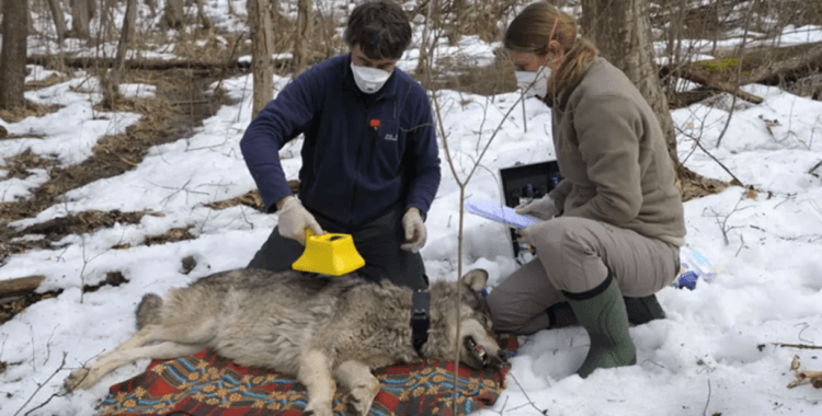
M251 66L254 77L253 119L274 96L274 28L271 24L270 0L248 0L249 31L251 32Z

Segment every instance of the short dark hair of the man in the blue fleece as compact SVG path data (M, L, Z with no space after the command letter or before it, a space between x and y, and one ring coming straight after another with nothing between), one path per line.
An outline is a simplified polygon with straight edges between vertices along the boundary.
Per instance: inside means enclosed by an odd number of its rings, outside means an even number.
M400 59L411 43L411 24L393 1L367 1L351 12L343 41L372 59Z

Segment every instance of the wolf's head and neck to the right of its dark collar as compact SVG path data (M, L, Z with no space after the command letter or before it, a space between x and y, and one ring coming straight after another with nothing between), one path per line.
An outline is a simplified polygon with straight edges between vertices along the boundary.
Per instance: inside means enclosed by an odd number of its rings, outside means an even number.
M488 273L476 269L458 282L432 285L431 330L429 342L422 348L426 358L453 360L459 350L459 361L472 368L499 368L506 363L505 351L496 343L488 302L482 296L487 281ZM459 285L460 297L457 294Z

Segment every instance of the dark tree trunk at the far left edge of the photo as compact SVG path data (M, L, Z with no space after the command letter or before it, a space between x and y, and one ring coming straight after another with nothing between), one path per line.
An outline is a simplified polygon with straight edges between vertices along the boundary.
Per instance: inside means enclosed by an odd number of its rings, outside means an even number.
M25 104L26 37L28 35L28 1L5 0L3 11L3 46L0 53L0 108Z

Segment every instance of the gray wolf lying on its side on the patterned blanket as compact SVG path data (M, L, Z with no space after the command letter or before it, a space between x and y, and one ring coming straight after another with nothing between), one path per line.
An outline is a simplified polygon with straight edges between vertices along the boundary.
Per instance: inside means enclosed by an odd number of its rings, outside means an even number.
M457 350L460 362L473 368L504 365L480 294L487 280L488 274L477 269L458 282L431 286L427 340L418 354L409 288L353 274L217 273L172 289L165 300L146 294L137 308L137 333L90 368L75 370L65 386L88 389L140 358L170 359L212 348L241 366L295 374L307 389L306 413L333 415L339 383L350 392L350 408L365 415L380 389L372 374L378 367L450 360ZM457 285L463 285L461 298Z

